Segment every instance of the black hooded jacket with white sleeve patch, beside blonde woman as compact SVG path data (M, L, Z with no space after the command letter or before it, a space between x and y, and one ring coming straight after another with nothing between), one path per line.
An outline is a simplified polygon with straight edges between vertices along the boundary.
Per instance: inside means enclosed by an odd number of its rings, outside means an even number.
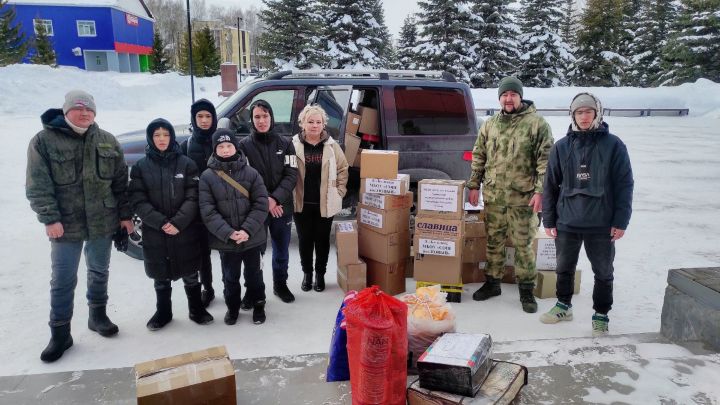
M260 106L270 114L270 129L258 132L252 122L252 133L240 141L240 150L247 156L250 166L262 176L268 196L283 206L286 214L293 212L293 189L297 182L297 162L292 141L276 134L275 116L272 107L265 100L256 100L250 105L250 114Z

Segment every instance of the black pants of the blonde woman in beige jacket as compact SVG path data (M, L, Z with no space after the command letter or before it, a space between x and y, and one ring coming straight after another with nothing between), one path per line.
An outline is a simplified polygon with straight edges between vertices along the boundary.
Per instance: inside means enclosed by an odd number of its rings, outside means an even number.
M294 217L300 245L300 265L303 272L313 272L314 250L315 271L324 274L330 254L330 230L333 217L321 217L320 206L317 204L305 204L303 211L296 212Z

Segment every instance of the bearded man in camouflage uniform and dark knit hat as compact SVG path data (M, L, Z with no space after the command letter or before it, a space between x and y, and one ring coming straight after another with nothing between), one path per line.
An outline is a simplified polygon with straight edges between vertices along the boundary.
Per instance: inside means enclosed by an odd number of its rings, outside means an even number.
M543 178L553 145L550 125L537 114L533 102L523 100L523 87L515 77L500 81L501 111L487 120L473 148L470 203L477 204L483 184L488 264L486 282L473 299L484 301L501 294L505 271L505 241L515 246L515 275L523 311L534 313L537 302L535 255L532 242L542 209Z

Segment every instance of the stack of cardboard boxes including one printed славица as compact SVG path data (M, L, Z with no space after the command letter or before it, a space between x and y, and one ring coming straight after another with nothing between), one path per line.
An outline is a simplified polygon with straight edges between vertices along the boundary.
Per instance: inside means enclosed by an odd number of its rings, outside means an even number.
M448 301L460 302L465 235L465 181L421 180L413 252L417 286L440 284Z

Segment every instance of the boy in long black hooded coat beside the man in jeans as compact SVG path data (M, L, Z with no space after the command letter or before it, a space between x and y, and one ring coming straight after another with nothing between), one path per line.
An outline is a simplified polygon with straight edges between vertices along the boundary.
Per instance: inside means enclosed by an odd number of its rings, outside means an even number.
M130 171L130 202L142 220L145 272L155 280L157 310L148 321L158 330L172 320L171 281L185 284L190 319L205 325L213 321L202 304L198 270L204 238L198 218L198 170L180 153L175 130L159 118L146 131L145 157Z

